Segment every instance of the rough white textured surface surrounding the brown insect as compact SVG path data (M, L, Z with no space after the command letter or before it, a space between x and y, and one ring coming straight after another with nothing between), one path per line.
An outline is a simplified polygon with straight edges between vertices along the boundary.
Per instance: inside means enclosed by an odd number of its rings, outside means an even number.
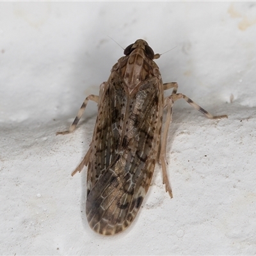
M212 114L175 104L168 142L173 199L161 169L132 227L94 234L84 216L86 169L70 173L92 138L90 103L138 38L164 82ZM0 3L1 255L256 253L256 4ZM232 96L233 95L233 96ZM234 97L233 102L230 99ZM82 212L83 211L83 212Z

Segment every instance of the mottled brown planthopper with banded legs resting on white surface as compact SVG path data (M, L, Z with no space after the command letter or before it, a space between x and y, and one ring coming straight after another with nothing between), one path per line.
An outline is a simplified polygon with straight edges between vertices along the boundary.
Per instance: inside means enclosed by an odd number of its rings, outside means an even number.
M113 66L108 81L100 85L99 97L87 97L69 131L58 132L74 131L88 100L98 103L90 148L72 175L88 166L86 216L90 227L104 235L121 232L134 220L156 163L161 163L163 183L172 197L166 172L166 140L175 100L185 99L208 118L227 117L212 116L177 93L177 83L163 84L153 61L160 55L154 54L144 40L129 45L124 54ZM172 95L164 99L164 90L170 88Z

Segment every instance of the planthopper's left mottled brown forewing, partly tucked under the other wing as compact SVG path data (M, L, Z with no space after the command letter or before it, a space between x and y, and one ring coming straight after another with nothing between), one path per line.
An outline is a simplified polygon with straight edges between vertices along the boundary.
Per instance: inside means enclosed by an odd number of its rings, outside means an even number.
M111 162L115 162L116 148L120 144L120 122L125 92L119 77L110 76L108 83L100 89L98 115L90 145L87 195L106 172Z

